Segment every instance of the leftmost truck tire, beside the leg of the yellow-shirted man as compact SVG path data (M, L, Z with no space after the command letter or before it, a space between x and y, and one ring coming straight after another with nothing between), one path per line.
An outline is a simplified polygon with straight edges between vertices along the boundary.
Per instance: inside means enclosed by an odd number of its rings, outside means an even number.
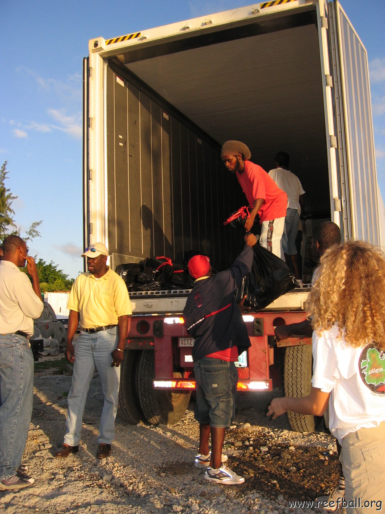
M118 417L130 425L146 423L138 394L141 350L125 350L120 370Z

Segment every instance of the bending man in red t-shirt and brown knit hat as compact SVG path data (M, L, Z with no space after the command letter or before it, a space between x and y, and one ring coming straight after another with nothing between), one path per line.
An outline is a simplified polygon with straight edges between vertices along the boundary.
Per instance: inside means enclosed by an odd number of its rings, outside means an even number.
M285 224L287 195L258 164L249 161L251 153L240 141L226 141L221 151L222 161L235 173L249 205L253 207L246 219L250 231L258 214L262 231L259 244L284 260L282 234Z

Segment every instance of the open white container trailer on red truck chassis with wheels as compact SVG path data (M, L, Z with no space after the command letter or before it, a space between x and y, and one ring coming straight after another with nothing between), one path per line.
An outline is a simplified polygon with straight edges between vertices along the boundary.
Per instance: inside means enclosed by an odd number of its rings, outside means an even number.
M158 255L181 263L188 250L218 270L232 263L242 237L223 221L246 200L220 160L227 139L267 171L278 151L290 154L308 236L329 219L343 240L385 243L367 52L339 2L270 0L98 37L83 71L84 246L104 242L113 269ZM187 292L132 295L119 407L131 423L176 423L187 406ZM301 295L246 317L240 390L280 387L283 367L286 393L309 393L311 340L274 340L275 325L305 318ZM315 426L312 416L289 421Z

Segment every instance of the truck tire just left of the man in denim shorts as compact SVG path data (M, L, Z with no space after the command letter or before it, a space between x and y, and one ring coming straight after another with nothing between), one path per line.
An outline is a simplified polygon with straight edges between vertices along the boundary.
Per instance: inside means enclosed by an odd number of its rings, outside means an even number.
M174 373L181 378L180 373ZM139 363L139 399L142 411L148 422L154 425L163 423L175 425L186 412L191 391L155 391L152 387L155 378L155 360L152 350L143 350Z

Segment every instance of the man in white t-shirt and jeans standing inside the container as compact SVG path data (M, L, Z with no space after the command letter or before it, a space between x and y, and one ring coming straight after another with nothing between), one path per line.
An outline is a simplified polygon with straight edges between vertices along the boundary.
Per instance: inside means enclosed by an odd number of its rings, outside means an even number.
M301 208L303 208L303 195L299 178L289 171L290 156L286 152L278 152L275 156L275 170L268 172L277 186L287 194L287 209L285 217L285 225L282 235L282 249L285 255L285 261L289 264L292 261L295 278L301 284L302 277L298 270L298 253L296 248L296 237L298 232L299 217Z

